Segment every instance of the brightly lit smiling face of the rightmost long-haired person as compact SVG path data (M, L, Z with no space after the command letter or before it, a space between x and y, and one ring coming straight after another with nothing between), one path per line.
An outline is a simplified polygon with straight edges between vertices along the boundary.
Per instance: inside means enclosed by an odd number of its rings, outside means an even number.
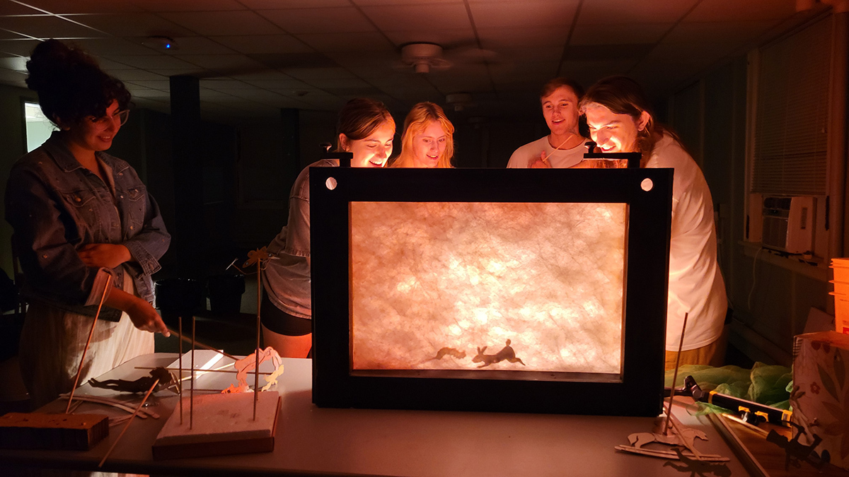
M589 135L605 153L631 153L637 151L638 132L648 121L648 113L643 112L640 121L634 121L630 115L616 114L601 104L588 104L584 108L587 115Z

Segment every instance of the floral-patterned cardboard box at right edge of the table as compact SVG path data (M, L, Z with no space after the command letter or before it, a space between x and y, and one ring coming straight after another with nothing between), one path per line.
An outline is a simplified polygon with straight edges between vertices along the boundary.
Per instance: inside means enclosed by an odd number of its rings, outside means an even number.
M834 331L800 334L793 346L793 422L805 429L799 441L814 435L814 449L829 452L831 463L849 469L849 334Z

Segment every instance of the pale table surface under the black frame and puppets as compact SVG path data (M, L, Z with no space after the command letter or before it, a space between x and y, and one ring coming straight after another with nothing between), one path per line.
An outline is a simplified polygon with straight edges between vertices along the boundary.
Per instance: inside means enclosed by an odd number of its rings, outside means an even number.
M149 368L167 366L176 354L139 356L98 379L137 379ZM226 358L225 358L226 360ZM222 361L222 363L232 360ZM651 432L652 418L578 416L496 412L331 409L312 404L312 361L284 358L284 373L276 390L281 395L274 451L222 457L153 460L151 444L177 405L177 396L160 391L150 410L159 419L135 418L102 470L138 474L204 475L688 475L678 461L644 457L614 449L627 436ZM185 360L184 360L185 362ZM265 363L269 364L269 363ZM207 373L196 387L222 389L234 374ZM274 390L274 388L272 388ZM80 394L116 396L112 390L85 384ZM138 404L142 396L122 394ZM481 396L498 399L498 396ZM528 399L533 399L528 396ZM66 401L65 401L66 402ZM54 401L39 412L63 412ZM76 412L120 416L102 405L84 403ZM681 422L701 429L708 441L697 441L700 452L730 457L722 475L748 475L707 418L673 407ZM126 413L125 413L126 415ZM60 469L97 469L124 424L91 451L20 451L0 449L0 463ZM652 445L656 446L656 445ZM662 446L668 450L668 446ZM666 464L666 465L665 465ZM2 466L0 466L2 467ZM728 474L728 471L730 474ZM683 472L683 474L682 474ZM706 472L707 474L708 472Z

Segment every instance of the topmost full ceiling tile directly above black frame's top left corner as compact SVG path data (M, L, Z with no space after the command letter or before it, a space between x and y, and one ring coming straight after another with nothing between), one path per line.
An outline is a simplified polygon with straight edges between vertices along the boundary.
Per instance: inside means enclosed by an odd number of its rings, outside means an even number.
M257 12L293 34L334 31L374 31L374 25L357 8L292 8Z

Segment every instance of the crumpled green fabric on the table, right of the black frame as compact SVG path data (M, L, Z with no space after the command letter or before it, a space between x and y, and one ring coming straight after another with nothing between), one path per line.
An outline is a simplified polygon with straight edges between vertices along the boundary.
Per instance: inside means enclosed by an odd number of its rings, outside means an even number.
M672 385L675 370L666 371L665 385ZM793 371L784 366L769 366L756 362L751 369L738 366L713 368L704 365L684 365L678 368L676 385L683 386L684 378L693 376L704 391L716 390L720 394L755 401L779 409L790 409L790 390ZM728 412L722 407L700 403L700 413Z

